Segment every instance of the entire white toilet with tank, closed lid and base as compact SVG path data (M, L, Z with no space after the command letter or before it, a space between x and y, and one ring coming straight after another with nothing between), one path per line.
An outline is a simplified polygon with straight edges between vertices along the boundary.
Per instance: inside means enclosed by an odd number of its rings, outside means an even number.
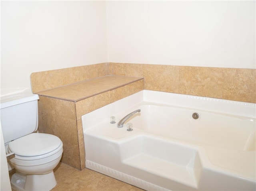
M38 130L38 95L1 98L0 115L6 153L14 153L10 166L16 169L11 185L18 191L49 191L56 186L53 169L60 162L63 144Z

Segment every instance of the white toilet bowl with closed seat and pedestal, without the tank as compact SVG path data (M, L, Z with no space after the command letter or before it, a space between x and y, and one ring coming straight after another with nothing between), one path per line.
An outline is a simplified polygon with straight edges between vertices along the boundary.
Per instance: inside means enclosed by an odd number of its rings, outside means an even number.
M17 190L50 190L56 186L53 169L58 165L62 141L51 134L32 133L8 144L8 152L15 153L10 163L16 169L11 185Z

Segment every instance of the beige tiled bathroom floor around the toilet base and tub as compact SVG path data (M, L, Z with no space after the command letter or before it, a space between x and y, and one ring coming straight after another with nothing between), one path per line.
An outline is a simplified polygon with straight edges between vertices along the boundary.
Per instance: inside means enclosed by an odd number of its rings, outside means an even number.
M13 173L10 171L10 177ZM59 163L54 174L58 184L51 191L144 191L96 171L87 168L80 171L65 163Z

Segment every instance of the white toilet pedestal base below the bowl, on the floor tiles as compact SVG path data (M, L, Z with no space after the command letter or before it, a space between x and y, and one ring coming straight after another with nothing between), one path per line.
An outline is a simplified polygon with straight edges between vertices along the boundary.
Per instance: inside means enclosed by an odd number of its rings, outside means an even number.
M12 175L11 185L18 191L50 191L57 185L57 181L53 171L37 175L26 175L16 171Z

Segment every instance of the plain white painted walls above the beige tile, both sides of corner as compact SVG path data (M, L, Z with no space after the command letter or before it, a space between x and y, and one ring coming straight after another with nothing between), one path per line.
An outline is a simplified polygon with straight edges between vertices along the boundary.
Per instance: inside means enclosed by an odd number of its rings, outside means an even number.
M102 62L256 68L255 1L1 1L1 95Z

